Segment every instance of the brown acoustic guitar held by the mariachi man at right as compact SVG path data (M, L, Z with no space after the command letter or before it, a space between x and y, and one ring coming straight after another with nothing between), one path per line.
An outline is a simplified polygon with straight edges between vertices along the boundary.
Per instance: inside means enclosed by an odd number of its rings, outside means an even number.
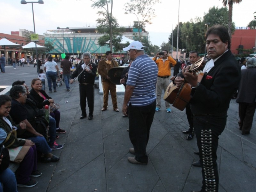
M204 67L204 64L206 63L206 60L204 60L204 57L196 63L192 64L189 68L189 71L191 73L197 73L197 82L201 82L204 73L200 72L199 70ZM177 85L174 85L173 83L170 83L164 93L164 100L168 103L172 104L173 107L183 111L186 106L188 105L191 97L191 85L185 80L180 88L177 87Z

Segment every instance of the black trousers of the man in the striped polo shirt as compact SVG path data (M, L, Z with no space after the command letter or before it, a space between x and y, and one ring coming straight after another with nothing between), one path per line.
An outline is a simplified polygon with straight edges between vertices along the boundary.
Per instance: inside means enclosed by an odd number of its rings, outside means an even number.
M131 103L128 106L129 137L135 151L135 159L142 163L148 163L146 148L155 110L156 100L147 106L134 107Z

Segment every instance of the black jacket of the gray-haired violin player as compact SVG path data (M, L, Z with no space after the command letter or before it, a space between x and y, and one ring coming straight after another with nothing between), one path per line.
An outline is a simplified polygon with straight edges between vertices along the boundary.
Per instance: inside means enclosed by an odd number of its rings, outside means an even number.
M83 64L84 64L84 62L80 63L76 67L76 71L71 75L70 79L74 79L75 77L77 77L83 71L83 68L82 68ZM84 70L83 73L77 77L79 83L84 82L84 83L94 84L95 76L96 76L96 73L97 73L97 68L96 68L96 65L92 62L90 62L89 65L91 66L90 68L91 68L92 72L88 73ZM84 81L82 81L82 78L84 78Z

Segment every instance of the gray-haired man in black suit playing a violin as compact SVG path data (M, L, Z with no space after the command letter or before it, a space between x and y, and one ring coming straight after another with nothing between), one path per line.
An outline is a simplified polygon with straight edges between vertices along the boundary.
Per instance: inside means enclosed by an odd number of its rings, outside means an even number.
M74 82L74 78L77 77L79 82L79 93L80 93L80 107L82 114L80 119L84 119L86 114L86 98L89 107L89 120L93 118L93 108L94 108L94 80L97 72L96 65L91 60L91 54L85 52L82 56L83 63L80 63L76 71L70 77L70 83Z

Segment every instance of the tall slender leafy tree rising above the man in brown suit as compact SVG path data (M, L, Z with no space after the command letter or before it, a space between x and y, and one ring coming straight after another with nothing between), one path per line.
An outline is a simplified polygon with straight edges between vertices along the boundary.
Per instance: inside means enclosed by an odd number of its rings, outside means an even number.
M119 47L119 43L121 42L122 31L124 29L119 27L116 18L112 14L113 0L90 1L93 3L91 5L92 8L102 10L97 12L102 18L96 20L99 24L97 31L104 34L98 40L99 45L104 46L109 44L111 51L113 46L115 47L115 50L120 49L121 47Z

